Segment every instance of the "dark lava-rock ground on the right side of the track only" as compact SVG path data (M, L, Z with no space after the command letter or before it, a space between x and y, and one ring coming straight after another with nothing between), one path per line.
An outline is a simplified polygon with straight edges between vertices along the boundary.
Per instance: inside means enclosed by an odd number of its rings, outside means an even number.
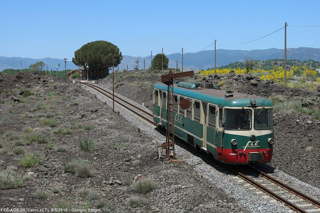
M151 108L153 84L160 82L159 75L167 72L140 71L136 74L140 78L132 73L115 74L115 92ZM320 107L320 86L315 90L282 87L273 80L264 81L252 74L236 75L233 72L228 75L194 76L180 80L203 80L216 85L223 82L222 89L259 95L279 102L279 107L274 112L277 124L274 155L270 165L313 186L320 186L320 120L315 119L315 114L301 113L308 111L308 108ZM99 81L99 84L112 89L112 76ZM283 107L286 103L296 103L297 106ZM294 109L299 106L301 107Z

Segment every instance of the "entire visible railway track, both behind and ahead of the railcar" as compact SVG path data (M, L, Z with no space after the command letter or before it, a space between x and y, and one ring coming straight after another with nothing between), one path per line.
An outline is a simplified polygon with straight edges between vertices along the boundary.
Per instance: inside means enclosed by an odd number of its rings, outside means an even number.
M79 82L79 81L78 81ZM82 84L95 89L101 94L107 96L110 99L113 99L112 93L108 92L104 88L101 88L97 85L91 83L81 82ZM128 103L118 96L115 97L115 102L125 107L126 109L132 111L136 115L145 119L149 123L158 127L156 123L152 121L153 115L151 113L146 112L145 110L140 109L139 107ZM213 160L213 159L212 159ZM215 161L215 164L217 162ZM300 191L292 188L291 186L286 185L285 183L269 176L268 174L249 166L251 173L255 173L255 175L249 174L245 175L242 172L229 167L226 164L218 163L222 167L226 168L228 171L237 175L236 177L240 177L243 180L238 180L238 182L248 182L248 184L244 184L244 187L249 187L251 190L255 190L255 193L259 196L259 194L266 193L267 196L262 196L262 198L269 198L270 196L274 198L270 202L283 202L284 205L288 206L292 209L292 212L296 211L299 213L310 213L310 212L320 212L320 202L309 197L306 194L301 193ZM251 176L251 177L249 177ZM254 187L252 187L254 186ZM260 195L261 196L261 195Z

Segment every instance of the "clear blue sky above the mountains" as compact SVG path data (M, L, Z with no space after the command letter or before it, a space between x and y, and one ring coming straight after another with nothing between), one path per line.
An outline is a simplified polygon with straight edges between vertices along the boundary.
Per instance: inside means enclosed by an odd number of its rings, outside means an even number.
M0 56L68 58L104 40L122 55L197 51L289 25L320 25L320 1L1 1ZM287 48L320 48L320 27L287 27ZM284 28L217 49L284 49ZM214 45L205 49L214 49ZM166 52L168 51L168 52Z

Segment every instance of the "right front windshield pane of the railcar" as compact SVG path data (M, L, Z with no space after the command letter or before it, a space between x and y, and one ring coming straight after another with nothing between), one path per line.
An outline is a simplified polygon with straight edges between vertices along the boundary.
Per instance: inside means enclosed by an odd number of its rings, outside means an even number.
M254 129L260 130L273 128L272 109L255 109L253 118Z

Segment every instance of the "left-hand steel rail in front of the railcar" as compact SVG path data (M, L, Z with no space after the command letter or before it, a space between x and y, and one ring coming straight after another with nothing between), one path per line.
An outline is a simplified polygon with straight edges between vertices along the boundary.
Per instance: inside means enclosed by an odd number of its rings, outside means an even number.
M272 197L276 198L277 200L283 202L285 205L287 205L289 208L291 208L294 211L297 211L299 213L309 213L307 210L301 209L299 206L293 204L292 202L284 199L283 197L281 197L279 194L274 193L273 191L271 191L270 189L266 188L265 186L262 186L261 184L257 183L256 181L252 180L251 178L247 177L246 175L242 174L239 171L236 171L235 169L224 165L226 168L228 168L229 171L232 171L234 174L238 175L240 178L244 179L245 181L251 183L252 185L258 187L260 190L264 191L265 193L271 195ZM280 182L280 181L279 181ZM290 186L289 186L290 187ZM292 188L292 187L290 187ZM291 190L289 190L291 191ZM303 194L303 193L301 193ZM306 195L308 196L308 195Z

